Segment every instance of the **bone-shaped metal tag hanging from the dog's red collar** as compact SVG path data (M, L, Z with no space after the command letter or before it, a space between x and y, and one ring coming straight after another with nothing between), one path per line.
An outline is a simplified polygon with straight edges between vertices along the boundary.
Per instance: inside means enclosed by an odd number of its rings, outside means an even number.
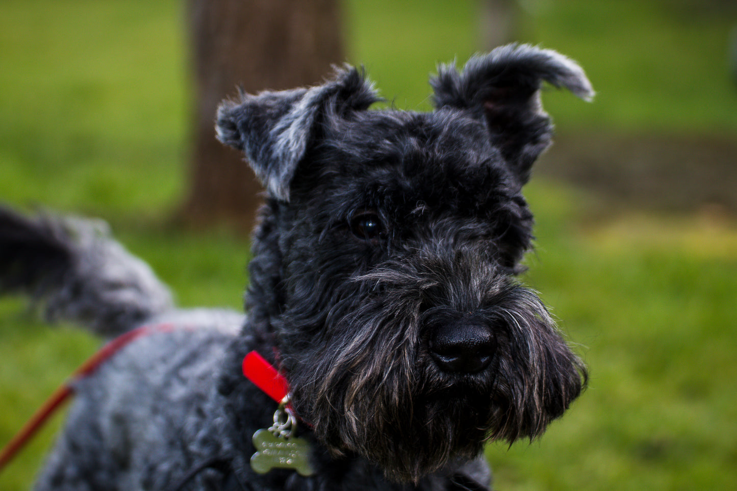
M251 456L251 469L259 474L268 473L274 467L293 469L300 476L312 476L310 444L304 438L275 436L268 430L254 433L256 453Z

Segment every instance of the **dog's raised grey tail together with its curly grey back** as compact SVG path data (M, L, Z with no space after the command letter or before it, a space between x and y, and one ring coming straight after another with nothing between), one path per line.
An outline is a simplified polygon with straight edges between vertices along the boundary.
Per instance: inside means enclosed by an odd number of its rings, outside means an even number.
M112 482L119 490L164 489L186 472L185 462L200 458L198 433L217 444L217 374L242 314L176 309L167 286L103 222L1 207L0 288L31 296L49 320L104 338L145 330L74 381L65 431L36 489L113 489Z

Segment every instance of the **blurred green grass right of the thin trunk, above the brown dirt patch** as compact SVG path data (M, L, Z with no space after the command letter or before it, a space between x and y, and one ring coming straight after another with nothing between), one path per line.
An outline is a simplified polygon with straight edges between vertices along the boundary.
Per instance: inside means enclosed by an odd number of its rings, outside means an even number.
M735 10L716 16L678 4L568 0L532 18L531 39L578 60L598 91L590 111L555 97L551 114L584 128L734 134L737 86L727 53Z

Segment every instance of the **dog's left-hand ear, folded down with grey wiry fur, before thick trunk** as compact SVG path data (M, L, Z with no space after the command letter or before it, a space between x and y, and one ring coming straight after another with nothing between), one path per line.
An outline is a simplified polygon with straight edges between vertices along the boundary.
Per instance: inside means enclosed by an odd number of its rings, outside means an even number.
M256 176L275 198L289 201L297 165L325 117L363 111L379 100L362 72L338 70L321 86L241 94L217 109L217 139L243 150Z

